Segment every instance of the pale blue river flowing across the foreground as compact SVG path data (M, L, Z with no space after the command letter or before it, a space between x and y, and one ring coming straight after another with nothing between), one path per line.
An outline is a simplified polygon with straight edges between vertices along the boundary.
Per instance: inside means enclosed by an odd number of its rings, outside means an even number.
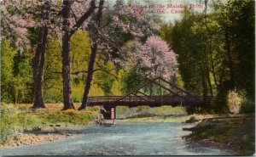
M228 150L189 143L188 124L118 121L115 126L83 126L85 134L55 143L0 149L0 155L228 155Z

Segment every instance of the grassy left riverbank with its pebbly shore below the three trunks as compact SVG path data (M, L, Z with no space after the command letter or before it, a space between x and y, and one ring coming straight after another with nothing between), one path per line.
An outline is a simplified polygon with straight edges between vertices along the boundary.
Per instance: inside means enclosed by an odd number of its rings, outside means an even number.
M44 109L33 109L32 104L2 105L0 147L48 143L71 137L76 134L73 128L93 124L99 112L97 107L78 111L61 110L63 104L45 105ZM79 104L74 105L79 107Z

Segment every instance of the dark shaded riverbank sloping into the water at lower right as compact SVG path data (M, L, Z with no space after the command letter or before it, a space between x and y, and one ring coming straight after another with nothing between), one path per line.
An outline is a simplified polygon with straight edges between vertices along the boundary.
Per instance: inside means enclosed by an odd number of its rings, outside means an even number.
M221 116L202 120L184 138L208 147L230 149L239 155L255 153L255 115Z

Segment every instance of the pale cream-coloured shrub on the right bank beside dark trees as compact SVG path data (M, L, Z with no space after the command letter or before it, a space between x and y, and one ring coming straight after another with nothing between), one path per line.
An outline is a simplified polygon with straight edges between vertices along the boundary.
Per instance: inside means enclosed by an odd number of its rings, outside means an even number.
M241 97L235 91L230 91L227 95L227 105L232 114L239 114L241 109Z

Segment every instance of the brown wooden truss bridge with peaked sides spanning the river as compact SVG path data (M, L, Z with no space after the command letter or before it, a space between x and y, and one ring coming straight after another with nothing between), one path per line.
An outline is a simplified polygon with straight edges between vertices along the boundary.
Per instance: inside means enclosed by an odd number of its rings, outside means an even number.
M212 101L212 97L195 96L177 87L172 82L161 77L154 78L136 87L130 93L123 96L96 96L89 98L89 106L128 106L137 107L147 105L157 107L161 105L183 105L204 104Z

